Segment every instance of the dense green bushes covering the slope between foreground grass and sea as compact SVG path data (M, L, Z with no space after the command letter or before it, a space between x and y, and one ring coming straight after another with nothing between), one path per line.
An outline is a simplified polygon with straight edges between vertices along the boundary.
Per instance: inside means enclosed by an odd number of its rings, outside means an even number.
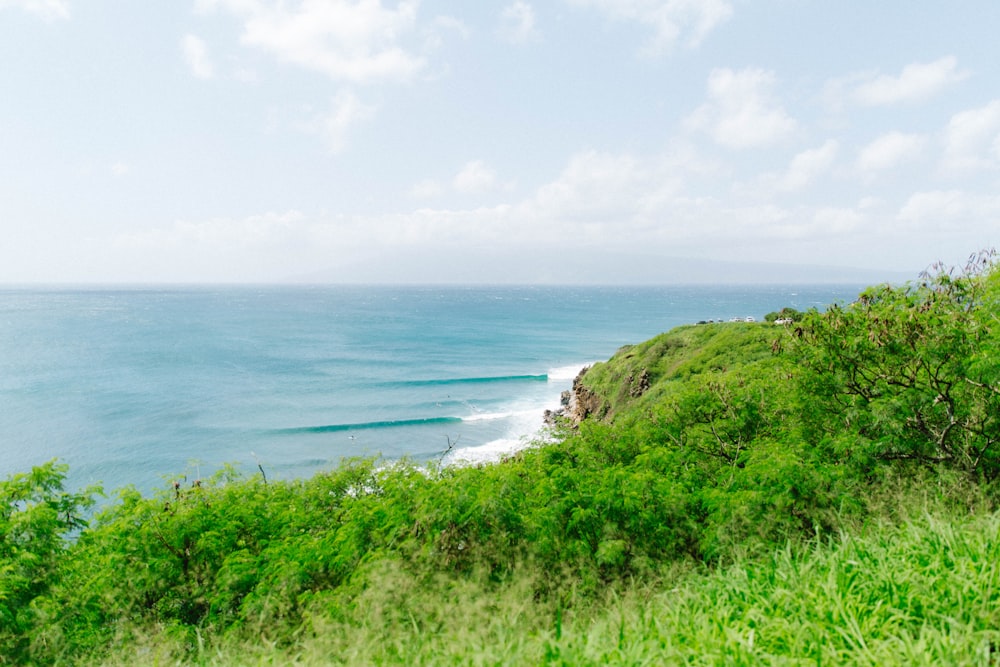
M684 327L624 348L583 378L604 420L498 465L355 460L280 482L226 469L122 490L86 528L95 490L65 492L54 464L15 476L0 487L0 660L100 656L147 632L192 656L205 637L281 646L355 622L387 578L563 610L837 535L886 516L889 489L991 498L990 259L790 327Z

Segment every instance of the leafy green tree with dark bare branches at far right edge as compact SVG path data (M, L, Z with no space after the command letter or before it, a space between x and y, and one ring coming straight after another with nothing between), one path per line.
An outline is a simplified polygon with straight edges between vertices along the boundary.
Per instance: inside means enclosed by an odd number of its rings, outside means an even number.
M796 329L816 436L842 456L1000 474L1000 277L992 251L882 285ZM860 459L859 459L860 460Z

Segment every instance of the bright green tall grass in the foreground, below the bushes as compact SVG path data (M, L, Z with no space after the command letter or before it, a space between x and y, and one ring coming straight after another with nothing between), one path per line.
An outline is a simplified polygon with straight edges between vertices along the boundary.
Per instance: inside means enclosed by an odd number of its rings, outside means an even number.
M988 665L1000 646L1000 516L919 515L601 596L539 601L530 567L418 580L383 563L295 635L150 630L104 664ZM567 583L567 585L570 585Z

